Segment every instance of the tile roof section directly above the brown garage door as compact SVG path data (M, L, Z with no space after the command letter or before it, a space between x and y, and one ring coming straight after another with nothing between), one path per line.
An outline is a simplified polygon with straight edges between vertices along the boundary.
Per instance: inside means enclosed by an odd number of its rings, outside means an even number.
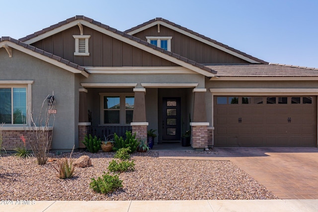
M217 77L318 76L318 69L282 64L205 65L217 71Z

